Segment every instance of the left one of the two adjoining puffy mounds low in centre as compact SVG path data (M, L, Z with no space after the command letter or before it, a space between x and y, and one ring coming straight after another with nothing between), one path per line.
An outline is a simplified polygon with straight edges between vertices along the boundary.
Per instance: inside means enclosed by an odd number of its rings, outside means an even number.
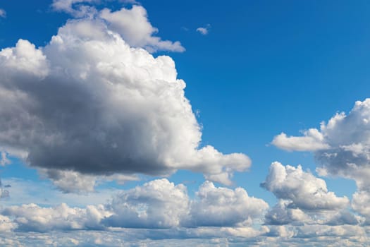
M188 214L189 198L183 184L175 186L167 179L144 183L125 191L108 205L113 215L104 219L110 227L178 227Z

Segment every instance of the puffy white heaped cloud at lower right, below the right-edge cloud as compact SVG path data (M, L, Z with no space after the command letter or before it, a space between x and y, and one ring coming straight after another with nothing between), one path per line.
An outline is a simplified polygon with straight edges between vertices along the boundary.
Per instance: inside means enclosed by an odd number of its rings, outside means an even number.
M261 186L278 198L278 203L265 215L266 225L288 225L299 231L307 224L327 227L364 222L363 217L349 210L347 197L328 191L323 179L303 171L301 166L273 162Z

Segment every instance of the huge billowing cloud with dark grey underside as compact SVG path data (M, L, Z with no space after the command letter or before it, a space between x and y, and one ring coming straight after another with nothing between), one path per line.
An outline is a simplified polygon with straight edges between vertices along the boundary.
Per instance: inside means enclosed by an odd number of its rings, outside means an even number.
M69 20L46 47L19 40L2 49L0 78L1 152L51 169L44 174L56 185L73 183L67 171L177 169L230 184L250 166L246 155L199 147L202 132L171 57L130 47L99 18Z

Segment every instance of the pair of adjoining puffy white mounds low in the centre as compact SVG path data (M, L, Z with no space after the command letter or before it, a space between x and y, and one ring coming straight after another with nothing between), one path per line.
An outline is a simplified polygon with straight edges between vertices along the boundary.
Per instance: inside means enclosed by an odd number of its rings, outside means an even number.
M217 188L210 181L190 200L183 184L159 179L121 193L107 207L113 215L104 219L106 226L171 228L243 227L260 219L269 206L242 188Z

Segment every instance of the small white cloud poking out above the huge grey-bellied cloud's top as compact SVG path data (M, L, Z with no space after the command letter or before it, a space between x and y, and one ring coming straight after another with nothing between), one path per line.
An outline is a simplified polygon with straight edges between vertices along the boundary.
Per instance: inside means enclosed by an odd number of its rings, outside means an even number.
M180 42L161 40L153 36L158 32L149 23L147 11L142 6L134 5L131 9L121 8L121 11L111 11L107 8L101 11L100 17L109 22L109 28L118 32L123 40L132 47L144 47L149 52L165 50L170 52L184 52Z

